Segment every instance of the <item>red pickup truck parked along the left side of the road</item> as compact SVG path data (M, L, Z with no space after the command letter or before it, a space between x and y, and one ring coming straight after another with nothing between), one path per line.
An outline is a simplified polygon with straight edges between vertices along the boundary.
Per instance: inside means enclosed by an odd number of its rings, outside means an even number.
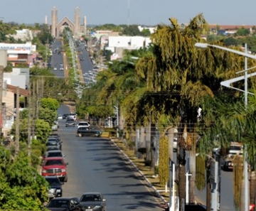
M68 163L62 157L44 158L42 163L42 176L57 176L60 181L68 182Z

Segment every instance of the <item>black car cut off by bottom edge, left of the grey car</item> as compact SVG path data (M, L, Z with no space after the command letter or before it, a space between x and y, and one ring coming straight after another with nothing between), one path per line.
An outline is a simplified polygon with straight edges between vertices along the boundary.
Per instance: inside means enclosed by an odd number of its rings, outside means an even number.
M46 205L48 210L51 211L84 211L84 208L80 204L78 198L71 198L71 197L65 197L65 198L53 198L48 202L48 205Z

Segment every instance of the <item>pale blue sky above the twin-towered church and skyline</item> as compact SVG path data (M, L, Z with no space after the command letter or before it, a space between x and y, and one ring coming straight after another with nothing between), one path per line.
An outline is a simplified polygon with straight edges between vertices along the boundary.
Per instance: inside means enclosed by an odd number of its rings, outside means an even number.
M105 23L156 26L189 23L198 13L206 21L218 25L256 26L255 0L0 0L0 20L16 23L50 23L50 11L58 9L58 21L67 16L74 19L75 7L80 8L87 25Z

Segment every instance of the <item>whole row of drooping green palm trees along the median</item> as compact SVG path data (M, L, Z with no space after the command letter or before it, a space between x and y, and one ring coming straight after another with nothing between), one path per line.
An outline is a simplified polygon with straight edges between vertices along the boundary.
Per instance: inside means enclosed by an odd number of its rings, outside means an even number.
M77 109L93 113L91 107L119 105L128 139L141 126L151 127L155 124L161 132L168 127L178 128L178 196L180 200L186 197L185 166L188 151L192 174L190 202L195 201L195 185L198 188L206 185L195 183L196 163L200 163L196 162L196 147L200 146L203 155L211 153L216 144L215 137L220 134L218 146L223 148L234 140L255 142L255 136L248 139L243 137L245 134L242 131L247 128L247 124L241 122L248 119L239 117L246 115L233 109L235 104L243 102L243 94L220 87L221 81L237 77L235 72L243 70L245 60L217 48L196 49L195 43L204 41L201 35L207 30L208 23L202 14L191 19L185 28L181 28L175 18L170 18L170 25L157 26L151 35L151 47L137 53L139 60L132 60L131 53L127 52L123 60L114 61L108 70L100 72L97 83L85 90ZM212 43L225 45L223 40L213 40ZM248 60L248 67L253 66L255 60ZM255 87L255 79L251 77L248 82L250 87ZM236 87L242 90L243 82L238 82ZM220 102L225 102L225 108L233 111L233 114L226 112ZM199 109L202 109L200 116ZM235 114L238 117L236 119ZM233 129L227 127L233 126L235 122L237 126ZM240 127L240 124L243 126ZM254 129L250 129L255 134ZM198 140L201 140L199 144ZM146 145L146 162L154 169L156 162L154 156L150 156L154 155L152 150L150 144ZM255 166L252 162L255 156L253 150L250 154L251 166ZM164 181L161 183L164 184Z

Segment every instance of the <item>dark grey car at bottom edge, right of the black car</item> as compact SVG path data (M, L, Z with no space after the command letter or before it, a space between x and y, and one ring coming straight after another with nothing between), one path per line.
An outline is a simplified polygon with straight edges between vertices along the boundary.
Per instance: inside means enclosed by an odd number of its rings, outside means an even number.
M85 208L85 210L90 211L106 211L106 200L102 193L91 192L83 193L80 198L80 203Z

